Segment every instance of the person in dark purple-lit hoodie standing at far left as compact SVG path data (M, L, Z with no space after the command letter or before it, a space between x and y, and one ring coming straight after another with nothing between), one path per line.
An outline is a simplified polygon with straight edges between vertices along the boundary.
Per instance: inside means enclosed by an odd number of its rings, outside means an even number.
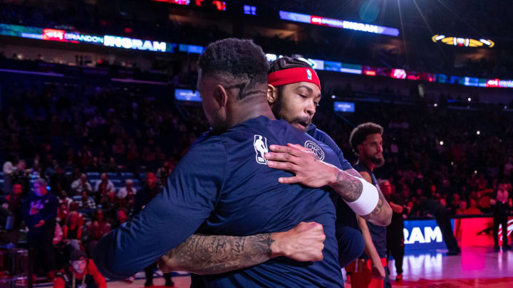
M52 242L58 200L52 193L48 193L46 181L42 178L33 183L33 191L23 208L24 221L28 227L27 244L33 248L35 271L47 275L55 269Z

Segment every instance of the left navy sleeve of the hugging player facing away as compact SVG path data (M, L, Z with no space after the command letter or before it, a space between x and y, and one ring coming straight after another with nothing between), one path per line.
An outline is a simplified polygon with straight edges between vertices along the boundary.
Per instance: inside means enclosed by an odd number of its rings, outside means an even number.
M167 178L164 191L96 245L93 260L109 279L126 279L184 242L219 200L227 156L221 142L197 144Z

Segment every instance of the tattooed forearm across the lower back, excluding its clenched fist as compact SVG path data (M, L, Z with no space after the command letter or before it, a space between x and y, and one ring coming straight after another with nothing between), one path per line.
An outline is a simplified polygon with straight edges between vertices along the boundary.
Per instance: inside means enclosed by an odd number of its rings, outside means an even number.
M271 234L245 237L192 235L167 252L166 270L218 274L258 265L272 258Z

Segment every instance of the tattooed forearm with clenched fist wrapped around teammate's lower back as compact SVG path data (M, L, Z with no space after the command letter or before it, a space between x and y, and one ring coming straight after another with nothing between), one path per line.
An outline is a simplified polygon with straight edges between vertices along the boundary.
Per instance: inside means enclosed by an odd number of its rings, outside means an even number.
M192 235L159 260L162 272L176 270L218 274L239 270L286 256L309 262L323 259L322 225L301 222L279 233L251 236Z

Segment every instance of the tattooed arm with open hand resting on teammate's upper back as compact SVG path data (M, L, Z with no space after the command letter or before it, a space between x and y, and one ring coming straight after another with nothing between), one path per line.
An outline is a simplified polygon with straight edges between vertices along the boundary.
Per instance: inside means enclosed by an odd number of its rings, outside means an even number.
M346 202L356 201L363 191L361 180L351 175L354 174L352 171L354 169L349 169L351 174L348 174L331 164L320 161L316 154L299 145L271 145L269 149L272 152L265 155L269 167L291 171L296 175L279 178L280 183L302 183L315 188L330 186ZM362 172L361 176L372 183L371 176L367 174L367 179L365 174ZM376 189L378 190L378 204L371 213L364 215L363 218L375 225L386 226L392 221L392 209L388 206L380 189L378 187Z

